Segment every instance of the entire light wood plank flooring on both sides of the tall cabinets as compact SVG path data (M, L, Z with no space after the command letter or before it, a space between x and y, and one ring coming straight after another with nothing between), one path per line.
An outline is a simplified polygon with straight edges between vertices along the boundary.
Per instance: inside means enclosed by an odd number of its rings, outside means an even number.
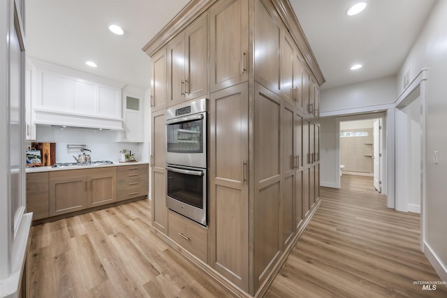
M419 251L419 216L386 208L369 177L321 188L322 202L267 297L447 297ZM148 200L36 225L28 297L228 297L149 232Z

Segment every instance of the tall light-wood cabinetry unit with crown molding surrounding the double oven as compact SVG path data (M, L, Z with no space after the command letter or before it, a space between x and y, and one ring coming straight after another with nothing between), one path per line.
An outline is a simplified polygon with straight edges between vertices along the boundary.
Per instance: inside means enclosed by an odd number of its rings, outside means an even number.
M207 255L175 239L170 222L179 218L161 207L165 128L156 115L162 119L162 110L152 114L152 173L160 175L152 180L153 227L234 292L261 296L318 207L318 86L324 78L287 0L195 1L144 49L153 61L168 49L168 106L188 100L174 57L184 57L185 32L205 16Z

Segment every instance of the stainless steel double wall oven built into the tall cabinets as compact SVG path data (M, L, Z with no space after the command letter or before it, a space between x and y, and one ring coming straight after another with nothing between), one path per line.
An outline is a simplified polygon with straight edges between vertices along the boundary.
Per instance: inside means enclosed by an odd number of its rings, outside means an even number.
M207 225L207 99L166 110L166 207Z

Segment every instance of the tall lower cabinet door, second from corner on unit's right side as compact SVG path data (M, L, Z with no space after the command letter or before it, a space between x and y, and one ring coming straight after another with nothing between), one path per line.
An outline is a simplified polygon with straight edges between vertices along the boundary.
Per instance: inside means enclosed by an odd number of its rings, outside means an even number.
M282 209L282 244L283 248L293 240L294 206L295 203L295 169L298 167L298 158L295 155L295 107L283 100L281 115L282 138L282 174L283 192L281 200Z

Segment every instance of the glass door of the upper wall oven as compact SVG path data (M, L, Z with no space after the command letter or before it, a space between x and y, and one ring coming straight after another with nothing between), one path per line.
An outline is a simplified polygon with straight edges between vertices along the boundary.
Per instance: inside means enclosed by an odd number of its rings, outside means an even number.
M197 114L166 122L167 151L181 154L201 154L203 146L204 115Z

